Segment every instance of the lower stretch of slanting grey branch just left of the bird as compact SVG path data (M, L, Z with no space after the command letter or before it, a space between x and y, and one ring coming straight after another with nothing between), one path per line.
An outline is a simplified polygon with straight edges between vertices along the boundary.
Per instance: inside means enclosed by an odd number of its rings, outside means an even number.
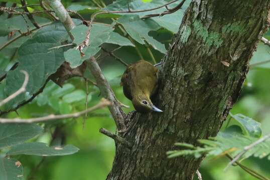
M109 106L109 110L111 115L115 121L116 127L118 130L124 128L124 112L121 109L116 97L108 83L105 79L96 59L94 56L91 56L89 60L87 60L87 66L94 76L97 86L100 89L101 95L107 98L111 102L111 106Z

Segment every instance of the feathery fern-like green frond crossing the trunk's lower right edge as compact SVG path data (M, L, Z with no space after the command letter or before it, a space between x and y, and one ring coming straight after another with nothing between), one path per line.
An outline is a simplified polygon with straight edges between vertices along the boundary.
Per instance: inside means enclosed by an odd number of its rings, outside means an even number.
M196 158L200 157L203 153L207 153L208 156L219 156L224 153L230 153L235 156L240 151L242 151L245 146L250 145L259 138L251 137L249 134L243 135L238 133L237 129L228 127L224 132L218 132L216 137L211 137L210 139L200 139L198 140L203 147L196 146L192 144L179 143L179 145L185 146L189 149L184 150L172 150L168 151L168 157L177 157L180 155L194 155ZM242 155L242 159L248 158L253 155L259 158L268 156L270 160L270 140L266 140L249 149Z

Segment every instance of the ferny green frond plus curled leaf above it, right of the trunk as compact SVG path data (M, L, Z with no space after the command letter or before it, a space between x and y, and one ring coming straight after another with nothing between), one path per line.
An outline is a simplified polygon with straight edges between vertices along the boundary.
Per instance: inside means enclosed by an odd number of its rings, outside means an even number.
M198 140L201 146L194 146L188 143L176 143L175 145L186 147L187 149L168 151L168 157L194 155L198 158L205 153L212 157L227 153L235 156L242 151L245 146L261 138L259 122L243 114L230 114L230 116L232 118L230 125L225 128L225 130L219 131L216 137ZM248 158L251 155L259 158L268 156L270 160L270 141L261 142L251 148L242 156L242 159Z

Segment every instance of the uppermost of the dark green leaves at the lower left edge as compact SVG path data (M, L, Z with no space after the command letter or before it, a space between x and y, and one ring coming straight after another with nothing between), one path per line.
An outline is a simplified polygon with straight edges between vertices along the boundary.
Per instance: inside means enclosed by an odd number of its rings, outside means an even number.
M23 143L41 133L42 130L37 124L1 124L0 148Z

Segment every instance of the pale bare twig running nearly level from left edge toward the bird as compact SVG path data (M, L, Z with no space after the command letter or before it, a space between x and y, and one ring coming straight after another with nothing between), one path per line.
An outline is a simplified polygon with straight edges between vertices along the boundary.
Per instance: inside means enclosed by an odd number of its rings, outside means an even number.
M110 105L111 103L106 99L101 99L101 101L83 111L75 112L75 113L69 113L69 114L61 114L61 115L55 115L51 114L44 117L37 117L37 118L28 118L28 119L22 119L22 118L0 118L0 123L34 123L34 122L46 122L49 120L57 120L57 119L64 119L64 118L76 118L81 115L84 115L85 113L91 112L93 110L105 107Z

